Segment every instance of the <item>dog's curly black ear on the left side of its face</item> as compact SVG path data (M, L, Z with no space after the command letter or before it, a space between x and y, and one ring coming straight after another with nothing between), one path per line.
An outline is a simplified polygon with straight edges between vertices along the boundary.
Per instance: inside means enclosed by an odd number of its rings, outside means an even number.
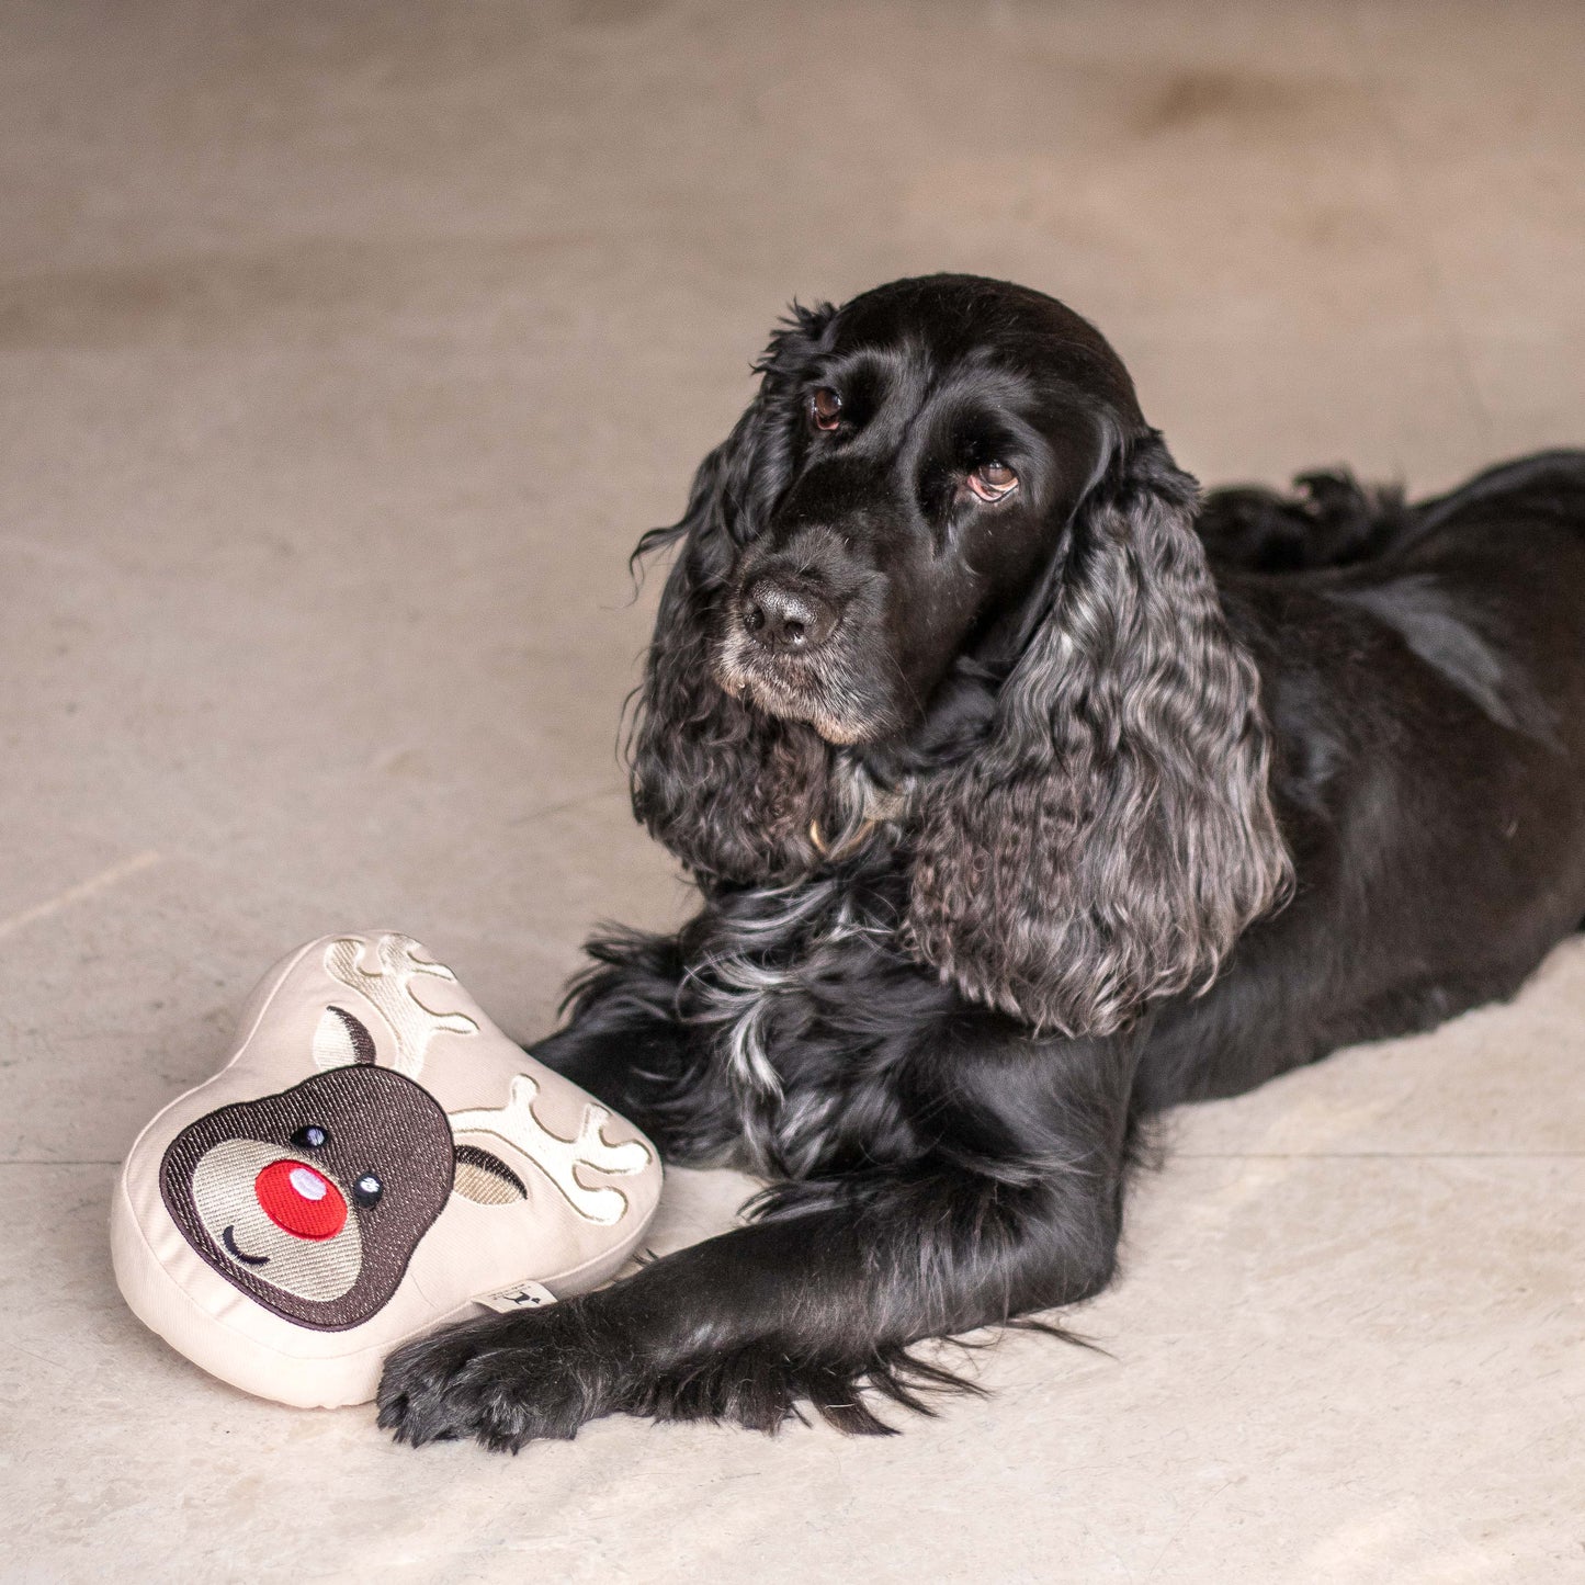
M794 306L772 338L759 393L701 464L680 523L636 555L682 540L661 594L629 739L632 808L704 883L777 881L816 862L831 750L800 721L731 697L712 658L737 552L786 488L799 372L832 309Z

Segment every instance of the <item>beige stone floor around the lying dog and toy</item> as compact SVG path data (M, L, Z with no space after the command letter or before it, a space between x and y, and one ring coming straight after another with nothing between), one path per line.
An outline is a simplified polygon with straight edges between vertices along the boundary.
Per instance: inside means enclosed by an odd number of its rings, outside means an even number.
M293 941L396 924L529 1035L683 907L623 558L788 298L1018 277L1209 480L1444 485L1585 439L1582 71L1577 3L6 6L0 1579L1585 1579L1585 940L1181 1116L1110 1357L889 1441L415 1455L200 1376L105 1241Z

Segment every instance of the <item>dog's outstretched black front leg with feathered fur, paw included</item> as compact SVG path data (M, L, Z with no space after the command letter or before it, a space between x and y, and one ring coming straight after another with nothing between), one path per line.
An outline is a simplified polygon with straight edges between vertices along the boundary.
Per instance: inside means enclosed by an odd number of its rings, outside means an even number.
M612 1412L775 1430L808 1401L884 1431L953 1385L908 1344L1087 1298L1111 1276L1132 1041L943 1049L915 1075L937 1144L897 1170L783 1186L766 1216L596 1293L401 1349L380 1425L517 1449ZM930 1090L934 1089L934 1094Z

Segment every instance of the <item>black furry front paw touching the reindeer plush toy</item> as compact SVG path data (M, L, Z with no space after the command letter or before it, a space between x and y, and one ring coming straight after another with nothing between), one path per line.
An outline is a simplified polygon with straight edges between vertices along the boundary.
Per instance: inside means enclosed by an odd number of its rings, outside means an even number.
M380 1426L414 1447L476 1438L514 1453L575 1436L604 1412L604 1373L571 1309L488 1316L398 1349L380 1381Z

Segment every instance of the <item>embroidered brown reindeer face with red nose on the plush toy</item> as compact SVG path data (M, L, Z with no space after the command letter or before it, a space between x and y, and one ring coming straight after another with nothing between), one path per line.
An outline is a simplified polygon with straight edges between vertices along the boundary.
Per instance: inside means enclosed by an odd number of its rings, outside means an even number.
M453 1184L469 1198L483 1182L491 1200L523 1195L502 1162L472 1154L488 1152L469 1152L464 1170L428 1090L361 1060L189 1124L160 1162L160 1195L228 1282L300 1325L344 1331L396 1292Z

